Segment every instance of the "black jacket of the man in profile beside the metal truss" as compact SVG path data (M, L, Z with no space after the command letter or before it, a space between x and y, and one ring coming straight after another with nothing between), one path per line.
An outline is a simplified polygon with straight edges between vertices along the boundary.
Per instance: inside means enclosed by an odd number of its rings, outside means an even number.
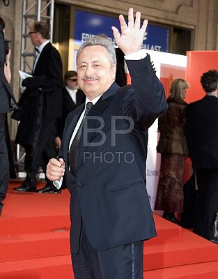
M16 112L13 118L20 120L15 142L25 146L32 145L36 135L36 123L45 123L47 119L57 119L62 114L62 62L61 56L51 43L43 48L33 77L27 77L22 85L26 91L19 105L21 114ZM38 120L38 117L41 120Z

